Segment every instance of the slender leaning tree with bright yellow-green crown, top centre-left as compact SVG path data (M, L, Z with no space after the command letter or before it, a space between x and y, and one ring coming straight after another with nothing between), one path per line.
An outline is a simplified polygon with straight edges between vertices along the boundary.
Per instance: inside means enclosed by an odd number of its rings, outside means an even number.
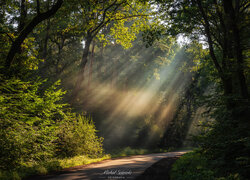
M80 3L83 19L81 25L84 34L84 49L79 65L79 74L73 90L73 100L84 81L85 67L88 62L90 45L94 38L107 40L102 34L105 26L111 26L109 36L113 36L113 41L118 40L119 44L125 47L131 46L131 41L135 39L135 34L142 28L147 15L147 3L133 2L130 0L113 1L84 1ZM79 16L77 13L76 16ZM126 27L126 22L132 22L131 29ZM79 26L79 25L78 25ZM122 40L121 40L122 39Z

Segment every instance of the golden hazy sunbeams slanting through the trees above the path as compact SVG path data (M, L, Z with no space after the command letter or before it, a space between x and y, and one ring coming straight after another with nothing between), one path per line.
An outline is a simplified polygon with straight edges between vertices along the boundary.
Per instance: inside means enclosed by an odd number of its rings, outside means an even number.
M152 56L154 49L139 48L137 54L141 53L141 56L132 60L131 56L121 55L121 50L116 46L114 48L118 52L108 53L112 63L104 64L104 71L100 71L100 65L105 61L94 59L99 64L93 67L91 84L85 80L78 92L79 108L96 116L96 126L106 146L135 143L143 128L149 124L152 126L148 129L151 135L145 137L145 142L150 144L163 136L173 119L179 95L190 84L191 73L180 70L183 59L172 55L168 57L162 51L157 50ZM177 54L178 49L174 50ZM170 63L157 67L158 62L154 59L159 55L170 58ZM89 65L87 67L90 68ZM158 75L155 75L156 68ZM72 79L70 82L73 82ZM148 117L151 118L146 120ZM157 138L153 138L155 136Z

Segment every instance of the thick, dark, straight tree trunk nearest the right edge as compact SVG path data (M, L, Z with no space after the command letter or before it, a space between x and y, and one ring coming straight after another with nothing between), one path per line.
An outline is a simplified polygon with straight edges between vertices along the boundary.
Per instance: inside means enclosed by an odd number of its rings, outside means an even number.
M231 32L232 36L232 43L230 44L232 48L231 53L235 62L234 67L236 67L235 76L233 76L235 78L235 84L233 84L233 93L235 97L241 97L241 100L239 98L234 98L231 102L228 102L228 109L232 112L233 119L237 119L239 122L248 123L249 95L247 81L244 74L244 59L242 54L243 45L240 36L240 29L238 27L238 25L242 23L241 19L238 18L239 16L241 16L238 3L233 6L232 0L223 1L223 8L226 15L225 17L227 18L228 31ZM236 107L241 110L236 110Z

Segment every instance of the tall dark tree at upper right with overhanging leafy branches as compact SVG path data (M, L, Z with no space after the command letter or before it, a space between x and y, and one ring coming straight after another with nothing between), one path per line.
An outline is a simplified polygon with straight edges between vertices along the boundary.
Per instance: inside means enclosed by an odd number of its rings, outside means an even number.
M248 99L246 56L249 50L246 0L161 1L168 34L205 41L226 96ZM230 105L231 104L231 105ZM232 103L228 102L228 106ZM229 107L230 108L230 107Z

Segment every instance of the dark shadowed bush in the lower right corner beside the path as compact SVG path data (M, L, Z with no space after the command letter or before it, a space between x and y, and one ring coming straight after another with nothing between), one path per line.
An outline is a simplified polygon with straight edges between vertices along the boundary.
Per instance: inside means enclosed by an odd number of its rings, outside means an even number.
M250 179L249 101L237 95L206 96L210 121L202 124L204 133L194 141L218 177Z

